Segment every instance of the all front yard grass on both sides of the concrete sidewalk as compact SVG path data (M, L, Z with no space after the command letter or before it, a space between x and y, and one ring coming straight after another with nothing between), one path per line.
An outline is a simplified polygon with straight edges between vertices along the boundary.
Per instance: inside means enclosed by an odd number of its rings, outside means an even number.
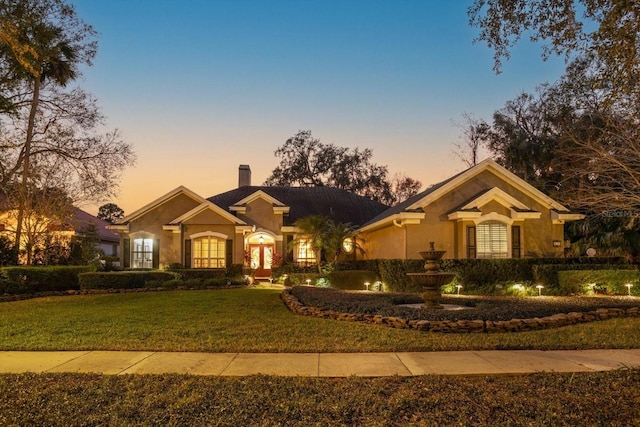
M640 319L444 335L303 317L279 290L0 304L0 350L369 352L640 348ZM5 374L0 425L640 425L640 370L304 378Z

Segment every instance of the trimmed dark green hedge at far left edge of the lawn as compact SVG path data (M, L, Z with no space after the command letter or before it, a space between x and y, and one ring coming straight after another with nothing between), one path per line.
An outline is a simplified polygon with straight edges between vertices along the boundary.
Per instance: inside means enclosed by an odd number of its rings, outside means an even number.
M20 294L80 289L79 275L94 270L89 266L4 267L6 279L0 291Z

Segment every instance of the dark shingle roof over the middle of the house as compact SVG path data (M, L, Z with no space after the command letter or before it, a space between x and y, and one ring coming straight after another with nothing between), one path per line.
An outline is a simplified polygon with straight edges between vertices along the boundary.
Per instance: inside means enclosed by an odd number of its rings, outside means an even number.
M292 225L297 219L308 215L326 215L336 222L362 225L389 207L345 190L332 187L267 187L246 186L227 191L208 200L222 209L240 200L263 191L290 207L284 217L284 225Z

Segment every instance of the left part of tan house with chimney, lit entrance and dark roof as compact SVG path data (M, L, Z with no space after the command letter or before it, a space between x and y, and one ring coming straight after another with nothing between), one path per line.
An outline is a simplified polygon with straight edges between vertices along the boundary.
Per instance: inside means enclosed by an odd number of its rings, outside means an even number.
M267 278L274 262L284 257L315 263L304 239L296 239L293 252L287 250L297 219L320 214L360 225L388 209L337 188L252 186L247 165L239 168L238 184L208 199L181 186L110 226L121 235L121 265L224 268L247 263L256 278Z

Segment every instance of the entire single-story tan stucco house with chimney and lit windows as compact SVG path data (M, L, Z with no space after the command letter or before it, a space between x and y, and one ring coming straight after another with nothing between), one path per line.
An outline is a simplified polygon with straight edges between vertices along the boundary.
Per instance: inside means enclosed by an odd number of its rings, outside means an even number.
M358 226L367 259L419 258L430 241L453 258L561 256L564 223L581 218L492 160L394 207L335 188L252 186L241 165L234 190L205 199L181 186L109 228L125 268L248 263L261 278L282 257L315 262L294 226L311 214Z

